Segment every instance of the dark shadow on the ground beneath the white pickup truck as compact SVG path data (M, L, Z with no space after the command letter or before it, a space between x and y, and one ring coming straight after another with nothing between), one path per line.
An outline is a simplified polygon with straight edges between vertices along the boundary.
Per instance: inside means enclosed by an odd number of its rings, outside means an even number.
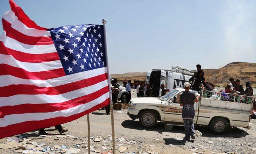
M154 132L158 132L158 133L170 132L170 133L184 134L184 132L185 132L184 127L180 127L180 126L174 126L171 130L165 130L163 122L157 122L156 127L151 128L151 129L141 127L140 123L138 121L134 121L134 120L125 120L125 121L123 121L123 123L121 125L124 128L128 128L128 129L137 129L137 130L145 130L146 129L147 131L154 131ZM197 127L195 127L195 130L199 130L202 133L202 137L241 138L241 137L245 137L246 135L249 135L246 131L241 130L237 127L232 127L230 131L228 131L225 134L220 134L220 135L211 133L211 130L209 127L197 126Z

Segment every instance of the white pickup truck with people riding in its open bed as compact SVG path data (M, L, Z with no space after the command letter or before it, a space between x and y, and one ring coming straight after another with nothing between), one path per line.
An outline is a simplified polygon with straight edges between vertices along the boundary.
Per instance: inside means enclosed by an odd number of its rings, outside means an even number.
M178 94L184 89L176 88L161 98L133 98L128 108L131 119L139 119L142 127L153 128L157 120L166 125L184 126L182 120L182 106L176 102ZM244 127L250 129L253 98L251 96L224 97L218 92L212 99L212 92L205 91L201 99L195 103L195 125L209 126L212 133L225 133L230 127Z

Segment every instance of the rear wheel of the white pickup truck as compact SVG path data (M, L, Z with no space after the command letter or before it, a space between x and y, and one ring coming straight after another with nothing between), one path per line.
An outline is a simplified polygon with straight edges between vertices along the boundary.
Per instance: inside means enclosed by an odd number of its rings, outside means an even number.
M210 124L211 132L214 134L222 134L228 130L228 122L224 118L215 118Z

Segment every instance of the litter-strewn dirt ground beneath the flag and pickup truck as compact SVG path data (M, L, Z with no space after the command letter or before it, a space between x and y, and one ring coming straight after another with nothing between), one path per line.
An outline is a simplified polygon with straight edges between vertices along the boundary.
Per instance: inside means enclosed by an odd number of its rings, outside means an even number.
M156 128L144 130L140 127L138 121L133 121L127 115L127 110L114 111L114 126L116 138L116 153L119 152L120 147L127 148L125 153L159 153L159 154L192 154L194 152L211 154L211 153L242 153L242 154L255 154L256 142L256 124L255 120L252 120L252 128L246 130L245 128L232 128L231 132L224 135L213 135L210 133L209 128L196 127L196 130L202 132L202 137L197 137L194 142L184 142L184 128L174 127L172 130L165 130L164 125L161 122L157 123ZM40 136L35 132L21 134L25 138L31 138L32 140L27 142L27 145L33 144L45 144L42 147L51 149L48 154L64 153L63 149L56 149L54 145L62 145L69 148L80 149L78 154L85 154L88 152L87 147L87 116L65 123L62 126L69 129L66 132L65 138L57 138L59 135L57 130L47 128L48 136ZM90 113L90 132L91 132L91 153L106 153L112 151L111 139L111 116L106 115L104 110L98 110ZM71 136L73 135L73 136ZM94 139L100 136L102 140L100 142L94 142ZM63 136L62 136L63 137ZM17 139L17 137L11 137L11 139ZM213 143L208 143L213 141ZM9 143L7 138L1 139L0 144ZM24 144L24 143L23 143ZM151 145L151 146L150 146ZM33 145L32 145L33 146ZM103 148L104 149L103 149ZM194 151L190 151L193 149ZM195 151L196 150L196 151ZM18 154L15 152L15 148L3 150L0 149L0 154ZM69 152L66 152L69 154Z

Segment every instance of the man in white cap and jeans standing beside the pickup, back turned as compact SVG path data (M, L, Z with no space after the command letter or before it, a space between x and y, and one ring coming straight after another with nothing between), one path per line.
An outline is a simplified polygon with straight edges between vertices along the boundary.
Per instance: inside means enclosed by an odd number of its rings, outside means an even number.
M195 127L194 127L194 104L198 102L200 96L195 94L193 91L189 91L191 84L189 82L185 82L183 87L185 88L185 92L180 96L180 106L182 108L182 119L184 121L185 126L185 140L195 139Z

